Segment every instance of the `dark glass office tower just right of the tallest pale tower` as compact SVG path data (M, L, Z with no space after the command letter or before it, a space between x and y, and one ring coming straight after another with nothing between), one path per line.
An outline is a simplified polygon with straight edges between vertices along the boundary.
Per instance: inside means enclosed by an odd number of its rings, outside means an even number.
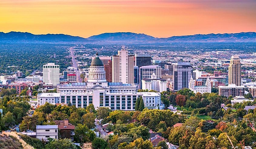
M137 54L135 53L135 66L140 68L141 66L151 65L151 54Z

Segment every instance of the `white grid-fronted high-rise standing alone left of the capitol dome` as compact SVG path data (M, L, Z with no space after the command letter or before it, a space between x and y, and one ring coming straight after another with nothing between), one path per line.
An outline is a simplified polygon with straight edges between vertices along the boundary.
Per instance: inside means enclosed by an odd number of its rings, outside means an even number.
M43 65L43 82L57 86L60 83L60 66L55 63Z

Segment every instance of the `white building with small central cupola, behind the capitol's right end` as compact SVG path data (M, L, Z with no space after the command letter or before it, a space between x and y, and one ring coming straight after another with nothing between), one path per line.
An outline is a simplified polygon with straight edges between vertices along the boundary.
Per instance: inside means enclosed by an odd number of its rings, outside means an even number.
M167 82L165 79L156 79L155 73L151 76L151 79L142 79L142 89L155 90L158 92L167 91Z

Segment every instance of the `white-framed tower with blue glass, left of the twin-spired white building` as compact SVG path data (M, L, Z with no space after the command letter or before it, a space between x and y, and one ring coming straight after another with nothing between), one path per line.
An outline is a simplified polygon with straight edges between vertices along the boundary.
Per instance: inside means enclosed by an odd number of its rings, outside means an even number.
M174 91L188 88L189 81L192 77L192 65L190 63L174 64Z

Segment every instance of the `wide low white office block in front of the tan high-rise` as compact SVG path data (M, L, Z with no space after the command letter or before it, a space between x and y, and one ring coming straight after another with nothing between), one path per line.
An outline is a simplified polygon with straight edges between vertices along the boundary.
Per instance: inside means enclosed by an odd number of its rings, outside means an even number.
M245 87L229 84L228 86L218 86L220 96L244 96Z

